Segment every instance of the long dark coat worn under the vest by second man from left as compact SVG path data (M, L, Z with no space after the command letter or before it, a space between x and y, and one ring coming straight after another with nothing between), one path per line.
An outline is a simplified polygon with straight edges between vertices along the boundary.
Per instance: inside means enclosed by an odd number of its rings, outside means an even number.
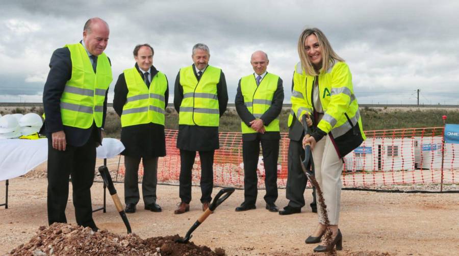
M143 76L139 70L139 66L135 65L137 71ZM154 77L158 70L151 66L149 73ZM167 78L166 78L167 79ZM146 86L146 85L145 85ZM113 98L113 108L121 117L126 96L129 90L127 89L124 72L118 77L115 85L115 97ZM164 93L165 106L169 100L169 88ZM121 129L121 142L124 144L124 151L121 155L130 157L154 158L166 156L166 139L164 135L164 125L157 123L145 123L126 126Z

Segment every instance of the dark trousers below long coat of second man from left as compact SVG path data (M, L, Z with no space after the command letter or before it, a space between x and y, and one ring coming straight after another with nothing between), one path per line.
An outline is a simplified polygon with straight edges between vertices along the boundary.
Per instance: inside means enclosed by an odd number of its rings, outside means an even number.
M156 202L156 185L158 183L158 158L141 158L124 156L124 203L137 204L139 195L139 164L142 159L143 178L142 178L142 197L145 206Z

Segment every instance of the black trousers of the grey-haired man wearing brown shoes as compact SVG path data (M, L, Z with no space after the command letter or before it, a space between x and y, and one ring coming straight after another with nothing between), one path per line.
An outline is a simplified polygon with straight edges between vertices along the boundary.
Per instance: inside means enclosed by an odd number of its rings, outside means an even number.
M201 202L210 202L212 200L212 189L214 187L214 151L199 151L201 161ZM180 149L180 188L179 196L182 202L190 203L191 201L191 171L193 169L196 151Z

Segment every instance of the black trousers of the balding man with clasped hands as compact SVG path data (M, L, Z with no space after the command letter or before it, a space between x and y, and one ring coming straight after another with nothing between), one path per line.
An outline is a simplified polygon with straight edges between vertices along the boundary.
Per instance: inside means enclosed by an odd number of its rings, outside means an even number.
M242 141L242 159L244 162L244 204L255 204L257 201L257 165L260 156L260 142L263 149L265 167L266 203L277 199L277 159L279 140L266 140L257 137L255 140Z

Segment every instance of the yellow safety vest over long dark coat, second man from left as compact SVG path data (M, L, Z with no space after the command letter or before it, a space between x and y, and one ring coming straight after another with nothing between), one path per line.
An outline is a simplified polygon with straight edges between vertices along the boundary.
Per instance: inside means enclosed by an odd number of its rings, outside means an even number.
M121 114L121 127L150 122L164 125L166 75L158 71L149 89L135 67L124 70L124 79L128 92Z

